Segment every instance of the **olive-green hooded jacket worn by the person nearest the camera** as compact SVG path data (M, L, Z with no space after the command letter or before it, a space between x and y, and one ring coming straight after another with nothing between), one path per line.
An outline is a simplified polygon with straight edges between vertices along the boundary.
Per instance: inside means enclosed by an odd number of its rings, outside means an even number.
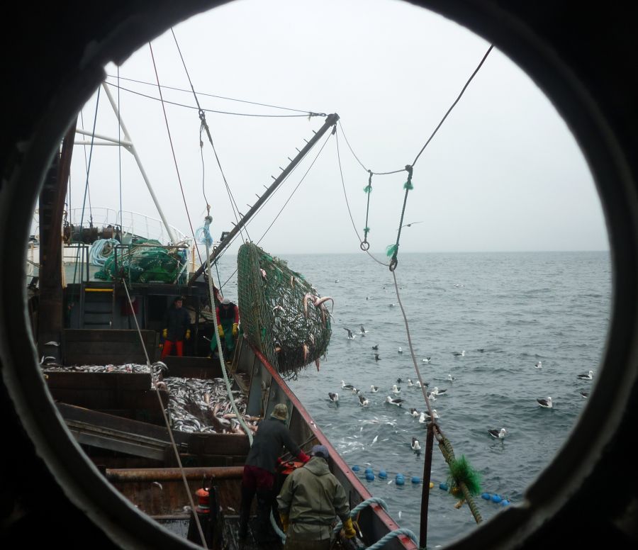
M320 456L286 478L277 505L279 512L289 515L288 534L293 539L329 539L335 515L345 521L350 512L344 488Z

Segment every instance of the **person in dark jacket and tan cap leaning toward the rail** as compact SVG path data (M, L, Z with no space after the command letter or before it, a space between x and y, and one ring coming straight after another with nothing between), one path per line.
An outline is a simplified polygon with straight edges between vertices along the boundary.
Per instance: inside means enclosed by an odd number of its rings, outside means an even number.
M240 539L246 537L252 498L257 494L255 540L262 544L269 541L270 510L274 499L272 487L282 447L286 447L286 450L301 462L310 460L310 456L293 441L286 427L286 420L288 420L286 405L284 403L275 405L270 418L259 422L257 434L252 440L242 477Z

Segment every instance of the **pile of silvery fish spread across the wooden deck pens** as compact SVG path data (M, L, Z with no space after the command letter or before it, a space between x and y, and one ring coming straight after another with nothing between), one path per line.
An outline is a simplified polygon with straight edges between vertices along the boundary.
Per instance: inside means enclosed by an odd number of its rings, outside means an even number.
M51 362L43 363L43 372L102 372L102 373L135 373L151 374L151 389L166 390L169 394L169 405L166 413L173 430L179 432L201 432L217 434L240 434L246 432L233 405L228 399L228 392L223 378L177 378L167 376L166 364L157 361L149 369L144 364L128 363L123 365L75 365L62 366ZM259 417L246 414L246 397L240 391L232 391L237 411L249 430L257 431Z

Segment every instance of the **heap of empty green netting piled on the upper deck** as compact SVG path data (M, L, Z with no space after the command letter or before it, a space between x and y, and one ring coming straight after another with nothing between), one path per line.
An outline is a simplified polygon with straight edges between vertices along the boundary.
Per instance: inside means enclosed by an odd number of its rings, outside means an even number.
M184 249L164 247L157 240L140 239L128 247L113 249L95 277L104 281L121 277L131 283L183 284L186 282L185 264Z

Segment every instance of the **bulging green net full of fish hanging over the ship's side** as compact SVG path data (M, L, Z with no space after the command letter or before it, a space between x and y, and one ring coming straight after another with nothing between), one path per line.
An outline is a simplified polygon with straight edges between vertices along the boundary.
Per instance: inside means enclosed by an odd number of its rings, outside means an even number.
M237 272L237 305L249 342L282 374L313 361L319 368L332 334L332 299L322 300L285 260L252 243L240 247Z

